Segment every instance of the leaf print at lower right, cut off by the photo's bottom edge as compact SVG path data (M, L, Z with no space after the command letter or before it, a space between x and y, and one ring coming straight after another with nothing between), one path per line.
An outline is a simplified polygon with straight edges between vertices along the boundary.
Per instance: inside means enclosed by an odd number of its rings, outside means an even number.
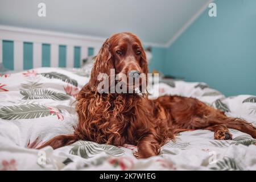
M222 160L218 160L214 167L210 167L212 170L221 171L241 171L243 168L236 162L234 158L225 157Z

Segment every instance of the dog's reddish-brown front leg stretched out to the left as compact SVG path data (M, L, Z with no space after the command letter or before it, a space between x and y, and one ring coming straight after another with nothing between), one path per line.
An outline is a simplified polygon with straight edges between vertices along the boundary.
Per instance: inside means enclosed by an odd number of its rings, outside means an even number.
M72 135L58 135L53 137L52 139L48 140L47 142L43 143L42 146L39 146L36 149L41 149L46 146L51 146L53 149L60 148L63 146L68 146L69 144L75 143L79 138L72 134Z

